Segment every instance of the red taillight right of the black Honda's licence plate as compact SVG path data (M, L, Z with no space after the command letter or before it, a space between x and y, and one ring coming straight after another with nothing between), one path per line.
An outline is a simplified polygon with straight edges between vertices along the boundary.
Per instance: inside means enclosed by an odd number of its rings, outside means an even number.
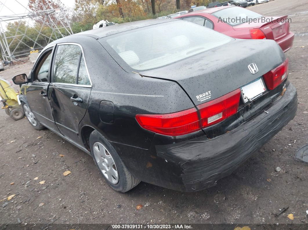
M267 72L263 75L263 79L267 88L270 90L276 88L280 85L288 75L288 67L289 67L289 60L286 59L281 65L274 68L270 72Z

